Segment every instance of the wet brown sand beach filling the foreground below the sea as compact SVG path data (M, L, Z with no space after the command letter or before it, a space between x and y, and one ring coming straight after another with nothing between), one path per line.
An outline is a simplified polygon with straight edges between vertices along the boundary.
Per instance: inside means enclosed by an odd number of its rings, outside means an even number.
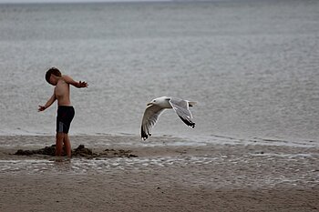
M8 139L17 145L5 145ZM57 161L13 155L52 143L50 136L0 136L0 211L319 210L317 146L173 145L179 139L139 145L135 136L73 136L74 147L135 156Z

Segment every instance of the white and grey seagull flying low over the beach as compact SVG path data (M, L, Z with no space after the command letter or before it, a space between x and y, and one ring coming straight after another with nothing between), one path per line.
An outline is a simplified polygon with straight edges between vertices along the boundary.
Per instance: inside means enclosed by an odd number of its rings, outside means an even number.
M189 106L194 106L195 104L196 102L168 96L153 99L145 109L140 127L140 136L143 140L151 136L151 128L155 126L164 109L174 109L177 116L179 116L187 126L194 128L195 123L191 121L192 115Z

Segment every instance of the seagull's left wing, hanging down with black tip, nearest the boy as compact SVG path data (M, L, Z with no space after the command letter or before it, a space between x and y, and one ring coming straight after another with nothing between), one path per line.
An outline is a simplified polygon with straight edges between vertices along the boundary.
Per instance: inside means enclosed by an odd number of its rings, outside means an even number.
M140 126L140 136L143 140L151 136L151 128L156 124L163 110L164 108L154 105L145 109L142 125Z

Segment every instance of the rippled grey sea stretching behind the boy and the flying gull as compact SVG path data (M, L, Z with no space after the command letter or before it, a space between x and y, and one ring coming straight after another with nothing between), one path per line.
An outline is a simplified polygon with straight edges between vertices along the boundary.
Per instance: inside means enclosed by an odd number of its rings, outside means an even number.
M0 5L0 135L54 135L57 107L36 110L57 66L89 84L72 135L138 136L146 104L178 96L199 102L195 129L167 111L154 136L317 143L318 4Z

